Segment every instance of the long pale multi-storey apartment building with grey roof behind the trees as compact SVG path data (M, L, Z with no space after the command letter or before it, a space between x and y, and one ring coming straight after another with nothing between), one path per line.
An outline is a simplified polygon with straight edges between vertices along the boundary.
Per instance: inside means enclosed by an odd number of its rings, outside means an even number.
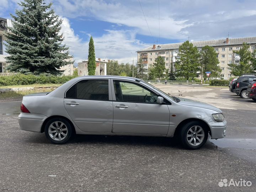
M193 41L193 46L196 46L200 51L204 46L212 46L218 53L219 67L222 69L221 77L229 79L231 77L231 69L228 66L230 63L239 63L239 55L233 53L233 50L239 50L242 43L250 44L249 50L251 52L256 48L256 37L234 38L234 39L219 39L210 41ZM145 71L147 72L150 66L153 66L158 56L164 57L165 68L171 69L171 65L175 69L175 62L178 57L178 49L182 43L159 44L141 49L137 51L137 59L143 59Z

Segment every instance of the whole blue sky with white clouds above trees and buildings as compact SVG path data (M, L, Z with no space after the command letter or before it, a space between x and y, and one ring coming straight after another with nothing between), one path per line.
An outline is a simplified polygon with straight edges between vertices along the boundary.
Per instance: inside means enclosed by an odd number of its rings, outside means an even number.
M0 0L0 17L11 18L20 0ZM63 19L64 43L75 63L88 58L137 62L137 50L153 44L254 37L255 0L46 0ZM141 5L141 6L140 6ZM142 11L143 9L143 11ZM144 12L144 14L143 14ZM145 15L145 17L144 17Z

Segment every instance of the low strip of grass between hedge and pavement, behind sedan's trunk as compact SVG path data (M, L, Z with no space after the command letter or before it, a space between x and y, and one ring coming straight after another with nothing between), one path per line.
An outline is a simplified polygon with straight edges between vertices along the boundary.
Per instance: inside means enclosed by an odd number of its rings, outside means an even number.
M49 92L54 89L34 89L34 90L23 90L23 91L6 91L0 94L0 99L12 99L12 98L21 98L24 95L29 95L39 92Z

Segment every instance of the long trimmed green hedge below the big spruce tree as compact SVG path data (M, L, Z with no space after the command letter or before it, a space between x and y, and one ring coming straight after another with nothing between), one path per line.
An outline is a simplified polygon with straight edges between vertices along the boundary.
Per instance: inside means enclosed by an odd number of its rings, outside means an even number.
M63 84L75 76L54 76L54 75L0 75L0 86L9 85L31 85L31 84Z

